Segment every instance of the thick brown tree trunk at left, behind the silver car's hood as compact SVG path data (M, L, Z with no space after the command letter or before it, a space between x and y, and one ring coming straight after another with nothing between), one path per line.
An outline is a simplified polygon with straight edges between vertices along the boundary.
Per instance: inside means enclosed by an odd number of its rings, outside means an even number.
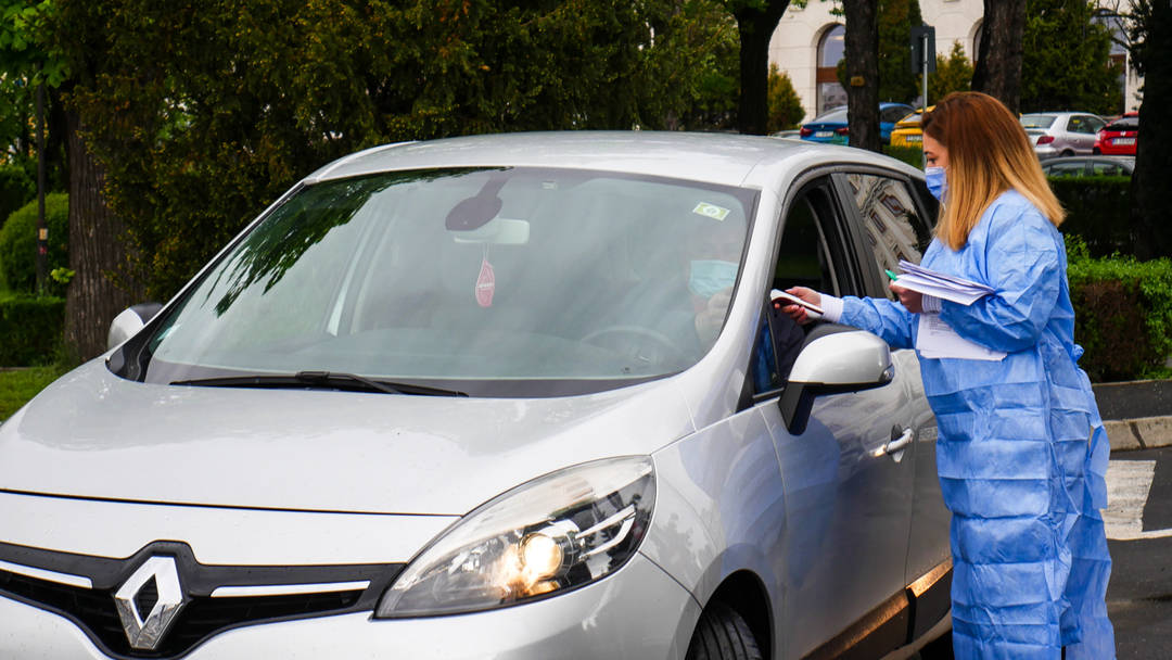
M66 293L66 345L83 360L105 351L114 317L134 305L141 292L128 291L123 227L102 196L104 170L87 150L81 121L66 113L69 161L69 268ZM118 277L122 286L115 284Z

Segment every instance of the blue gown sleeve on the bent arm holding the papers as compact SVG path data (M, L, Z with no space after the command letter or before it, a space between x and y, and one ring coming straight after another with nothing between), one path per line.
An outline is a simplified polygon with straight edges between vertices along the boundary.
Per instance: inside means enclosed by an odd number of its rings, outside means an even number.
M1057 305L1058 246L1031 206L999 206L988 219L983 261L994 293L967 306L943 300L940 319L965 339L1014 353L1037 343Z

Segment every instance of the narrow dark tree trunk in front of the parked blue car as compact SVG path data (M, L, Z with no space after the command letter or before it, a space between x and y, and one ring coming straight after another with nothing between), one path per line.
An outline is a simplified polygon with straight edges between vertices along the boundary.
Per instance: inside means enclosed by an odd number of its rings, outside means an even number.
M879 135L879 19L873 0L843 0L850 145L883 152Z

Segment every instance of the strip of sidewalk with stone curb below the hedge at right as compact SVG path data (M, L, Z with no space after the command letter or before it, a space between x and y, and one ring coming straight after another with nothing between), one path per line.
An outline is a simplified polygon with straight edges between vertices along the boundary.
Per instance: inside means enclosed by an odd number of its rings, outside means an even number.
M1172 381L1130 381L1095 387L1111 451L1172 445Z

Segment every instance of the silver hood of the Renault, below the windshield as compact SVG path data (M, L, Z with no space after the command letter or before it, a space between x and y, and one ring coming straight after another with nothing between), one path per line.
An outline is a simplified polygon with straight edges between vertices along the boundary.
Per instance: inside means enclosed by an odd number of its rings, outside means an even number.
M0 427L0 490L305 511L462 515L563 467L691 430L673 379L560 399L149 385L100 361Z

